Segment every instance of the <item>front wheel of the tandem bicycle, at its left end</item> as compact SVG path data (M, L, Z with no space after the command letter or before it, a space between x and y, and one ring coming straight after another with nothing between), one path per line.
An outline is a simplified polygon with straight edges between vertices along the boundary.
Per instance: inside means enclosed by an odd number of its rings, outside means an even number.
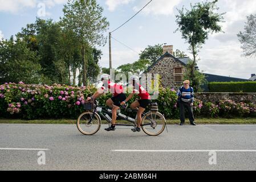
M78 130L84 135L93 135L99 131L101 125L101 119L99 114L92 113L90 111L84 112L79 115L76 121Z

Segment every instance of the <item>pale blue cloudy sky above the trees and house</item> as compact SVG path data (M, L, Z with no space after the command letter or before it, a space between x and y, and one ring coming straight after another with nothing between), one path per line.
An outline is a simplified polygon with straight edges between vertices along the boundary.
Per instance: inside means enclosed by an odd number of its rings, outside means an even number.
M62 16L62 8L67 0L0 0L0 37L5 39L17 34L27 23L33 23L40 15L42 5L46 7L46 16L55 21ZM104 7L104 16L110 23L112 31L125 20L131 18L149 0L97 0ZM139 54L148 45L167 43L174 49L180 49L189 56L188 44L181 38L180 32L174 33L177 28L175 15L182 6L189 7L197 0L153 0L140 14L128 24L113 32L113 38L123 42L128 49L112 40L112 62L116 68L121 64L133 63L139 59ZM241 45L237 34L243 30L246 15L256 14L255 0L220 0L220 10L224 13L225 22L222 23L225 33L214 34L201 49L198 58L200 69L206 73L216 75L249 78L256 73L256 59L242 57ZM39 12L39 14L38 14ZM105 34L108 35L108 32ZM97 47L103 51L100 61L101 67L108 67L108 44Z

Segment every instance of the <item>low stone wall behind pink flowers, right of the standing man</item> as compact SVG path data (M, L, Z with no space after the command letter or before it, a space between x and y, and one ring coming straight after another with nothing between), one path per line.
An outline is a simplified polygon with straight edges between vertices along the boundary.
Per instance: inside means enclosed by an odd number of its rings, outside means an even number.
M233 100L235 102L253 102L256 104L256 93L195 93L194 97L203 102Z

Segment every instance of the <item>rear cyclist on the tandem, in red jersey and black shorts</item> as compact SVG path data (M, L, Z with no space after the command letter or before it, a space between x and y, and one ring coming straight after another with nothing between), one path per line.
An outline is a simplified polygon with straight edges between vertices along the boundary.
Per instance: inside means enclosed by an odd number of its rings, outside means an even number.
M137 127L136 129L132 129L133 132L140 132L140 125L141 125L141 114L145 111L146 107L151 104L151 97L147 90L145 90L140 84L139 84L139 77L136 75L133 75L129 78L129 84L132 84L133 86L133 92L125 99L125 101L121 102L121 105L124 105L126 102L128 102L135 94L138 94L140 97L139 101L135 101L131 104L132 109L137 109Z

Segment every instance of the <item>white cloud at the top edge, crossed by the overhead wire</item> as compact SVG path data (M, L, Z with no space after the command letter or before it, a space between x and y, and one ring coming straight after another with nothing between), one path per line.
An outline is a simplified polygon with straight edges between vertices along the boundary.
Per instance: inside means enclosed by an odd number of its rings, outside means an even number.
M143 14L153 14L153 15L172 15L174 7L181 3L182 0L157 0L152 1L145 9L142 11ZM149 1L141 0L139 6L133 7L133 10L139 11L143 6L145 6Z

